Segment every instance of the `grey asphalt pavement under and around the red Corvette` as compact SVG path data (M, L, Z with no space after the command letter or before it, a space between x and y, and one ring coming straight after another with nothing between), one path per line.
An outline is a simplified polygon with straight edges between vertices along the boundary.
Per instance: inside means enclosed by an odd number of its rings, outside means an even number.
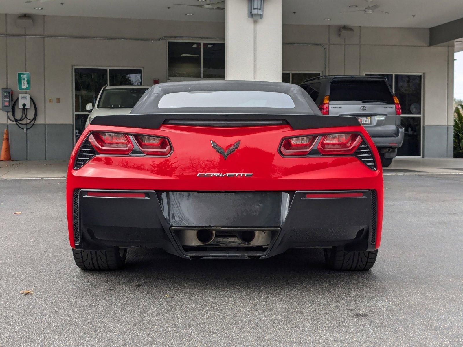
M317 249L268 260L129 249L124 270L85 272L65 184L0 180L1 347L463 345L463 175L385 176L382 247L360 273L325 269Z

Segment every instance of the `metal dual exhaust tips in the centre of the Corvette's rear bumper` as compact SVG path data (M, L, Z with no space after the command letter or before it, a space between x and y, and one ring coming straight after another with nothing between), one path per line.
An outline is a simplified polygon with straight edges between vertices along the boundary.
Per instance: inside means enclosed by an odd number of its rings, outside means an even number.
M223 231L219 231L223 234ZM183 246L204 246L214 241L214 239L220 243L236 243L232 240L245 245L252 246L268 246L270 243L271 232L268 230L237 230L232 232L225 231L228 235L218 235L215 229L196 229L196 230L179 230L178 236L179 241Z

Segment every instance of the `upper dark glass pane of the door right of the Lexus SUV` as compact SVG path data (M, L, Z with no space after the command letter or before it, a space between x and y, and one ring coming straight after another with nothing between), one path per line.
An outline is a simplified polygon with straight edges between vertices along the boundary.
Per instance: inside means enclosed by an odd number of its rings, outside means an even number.
M394 92L402 114L421 114L421 75L396 74Z

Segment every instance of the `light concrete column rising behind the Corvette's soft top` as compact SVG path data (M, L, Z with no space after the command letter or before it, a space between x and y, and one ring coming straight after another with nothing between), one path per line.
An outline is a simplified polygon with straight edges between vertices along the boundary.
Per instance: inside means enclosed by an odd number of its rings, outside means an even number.
M225 79L282 81L282 0L264 0L248 18L248 0L225 2Z

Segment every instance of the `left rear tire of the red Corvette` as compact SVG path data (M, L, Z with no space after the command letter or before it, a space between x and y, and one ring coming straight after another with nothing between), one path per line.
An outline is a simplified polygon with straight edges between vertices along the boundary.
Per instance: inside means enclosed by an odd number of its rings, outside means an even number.
M75 265L82 270L118 270L125 263L127 248L111 247L105 251L73 249Z

